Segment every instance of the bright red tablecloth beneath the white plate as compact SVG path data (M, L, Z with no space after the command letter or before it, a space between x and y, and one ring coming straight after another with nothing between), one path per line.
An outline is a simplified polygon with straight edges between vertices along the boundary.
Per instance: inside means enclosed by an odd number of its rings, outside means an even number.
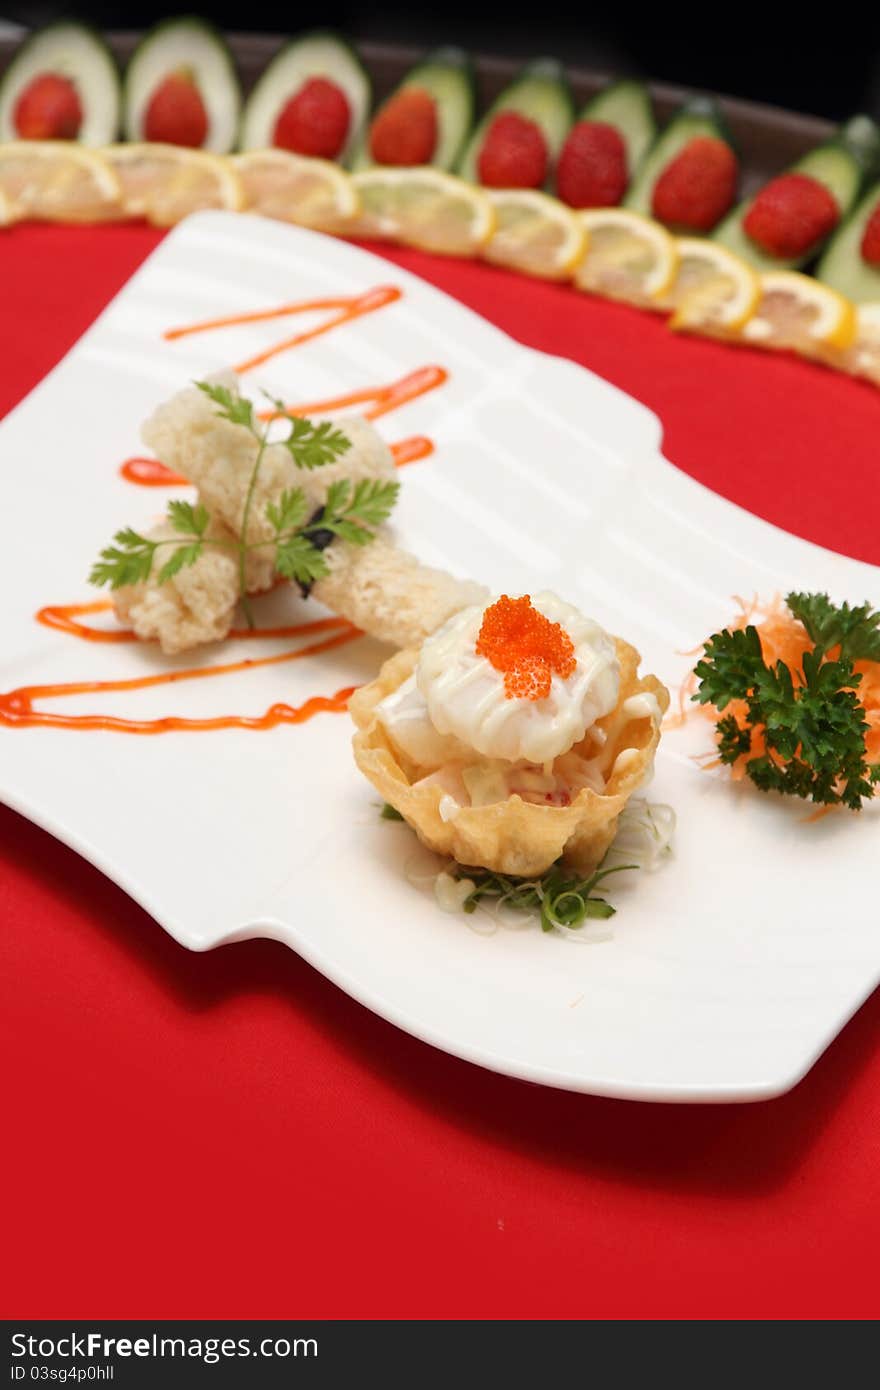
M0 238L0 413L157 239ZM880 392L388 254L645 400L709 486L880 563ZM11 812L0 923L7 1316L880 1312L880 998L783 1099L649 1106L448 1058L274 942L189 955Z

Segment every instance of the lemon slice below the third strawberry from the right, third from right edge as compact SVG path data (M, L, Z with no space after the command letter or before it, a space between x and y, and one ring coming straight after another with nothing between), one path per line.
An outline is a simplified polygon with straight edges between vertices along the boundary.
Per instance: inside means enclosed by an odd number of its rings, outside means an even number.
M670 328L741 328L758 309L758 274L734 252L702 236L678 236L677 243L678 268L666 295L674 310Z

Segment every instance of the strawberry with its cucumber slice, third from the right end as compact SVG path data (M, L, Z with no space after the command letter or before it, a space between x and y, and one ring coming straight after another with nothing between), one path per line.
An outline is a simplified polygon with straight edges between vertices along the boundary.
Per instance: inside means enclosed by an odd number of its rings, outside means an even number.
M710 97L687 101L642 158L626 206L681 232L710 232L731 208L740 161Z

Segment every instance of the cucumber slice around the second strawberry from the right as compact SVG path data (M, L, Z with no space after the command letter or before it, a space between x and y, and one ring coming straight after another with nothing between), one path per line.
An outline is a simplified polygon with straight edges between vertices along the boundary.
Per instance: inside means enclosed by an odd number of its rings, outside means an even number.
M854 115L834 132L830 140L809 150L785 172L809 174L819 183L824 183L837 202L841 217L847 217L879 154L880 129L869 115ZM733 213L713 232L713 239L730 247L756 270L798 270L798 267L806 265L819 247L810 247L806 256L785 260L781 256L770 256L752 240L744 222L753 202L753 199L747 197L738 207L734 207Z

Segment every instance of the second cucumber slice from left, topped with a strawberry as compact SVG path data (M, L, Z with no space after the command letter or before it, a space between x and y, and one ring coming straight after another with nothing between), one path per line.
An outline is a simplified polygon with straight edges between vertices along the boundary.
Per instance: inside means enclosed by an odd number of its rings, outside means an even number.
M129 140L185 145L227 154L235 145L242 93L222 35L206 19L163 19L125 70Z

